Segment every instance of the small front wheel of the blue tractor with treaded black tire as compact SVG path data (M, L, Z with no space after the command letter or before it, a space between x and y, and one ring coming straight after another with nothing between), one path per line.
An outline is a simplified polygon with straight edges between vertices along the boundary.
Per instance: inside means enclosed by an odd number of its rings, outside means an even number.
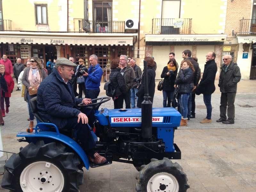
M155 190L170 191L170 188L176 188L176 190L172 189L170 192L186 192L189 188L187 175L183 172L181 166L178 163L172 163L172 161L166 157L164 157L163 160L151 159L149 164L142 165L141 168L142 170L136 177L136 192L152 192ZM157 177L158 180L155 180L155 183L153 183L154 175L156 176L156 174L160 174L160 176L163 174L163 178L166 178L166 175L170 175L170 179L174 180L174 185L176 181L177 186L172 185L172 183L170 185L169 182L167 182L168 179L161 179L161 181L158 182L159 178L161 178L159 176ZM148 184L154 185L154 190L147 191Z

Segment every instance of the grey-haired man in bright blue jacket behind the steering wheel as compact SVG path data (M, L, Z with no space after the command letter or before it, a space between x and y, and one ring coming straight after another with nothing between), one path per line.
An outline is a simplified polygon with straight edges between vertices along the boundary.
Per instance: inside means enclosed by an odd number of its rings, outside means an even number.
M102 68L98 64L97 55L91 55L89 58L90 68L85 72L86 97L96 99L100 94L100 81L103 74Z

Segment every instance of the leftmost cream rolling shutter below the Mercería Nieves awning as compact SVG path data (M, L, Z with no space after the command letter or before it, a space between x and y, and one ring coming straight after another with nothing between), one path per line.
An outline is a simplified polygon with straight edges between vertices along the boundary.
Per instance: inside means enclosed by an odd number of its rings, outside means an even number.
M163 68L169 61L170 46L153 46L153 57L156 61L156 79L161 79Z

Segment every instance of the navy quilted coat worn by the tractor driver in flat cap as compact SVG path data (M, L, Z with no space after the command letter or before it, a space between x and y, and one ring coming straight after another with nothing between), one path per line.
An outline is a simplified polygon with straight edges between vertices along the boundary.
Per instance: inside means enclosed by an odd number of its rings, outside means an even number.
M37 110L44 121L56 124L63 128L68 118L77 117L81 112L76 107L83 99L75 98L72 84L67 84L56 68L40 84L37 91Z

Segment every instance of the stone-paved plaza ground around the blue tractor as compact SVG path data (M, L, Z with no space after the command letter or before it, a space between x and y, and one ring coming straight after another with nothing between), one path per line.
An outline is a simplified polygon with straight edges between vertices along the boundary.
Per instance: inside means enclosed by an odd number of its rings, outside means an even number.
M158 82L156 82L157 84ZM215 82L217 84L217 82ZM256 81L241 80L236 94L235 124L217 123L220 92L212 94L211 124L200 124L206 108L202 95L196 96L196 118L175 132L175 143L181 149L181 160L176 160L188 176L188 192L255 192L256 191ZM16 85L15 85L16 89ZM100 96L105 96L103 84ZM162 107L162 92L156 90L153 107ZM17 142L19 131L28 126L27 104L14 91L10 112L1 126L4 150L18 152L26 143ZM102 108L113 108L113 101ZM84 170L81 191L133 192L138 172L130 164L113 162L111 165ZM1 180L2 176L0 176ZM8 190L0 188L0 192Z

